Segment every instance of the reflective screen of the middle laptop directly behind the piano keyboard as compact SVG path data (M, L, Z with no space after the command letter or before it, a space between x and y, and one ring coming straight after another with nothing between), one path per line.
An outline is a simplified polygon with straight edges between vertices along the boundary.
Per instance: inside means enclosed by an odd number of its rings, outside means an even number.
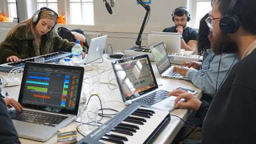
M120 59L112 65L124 101L158 88L148 55Z

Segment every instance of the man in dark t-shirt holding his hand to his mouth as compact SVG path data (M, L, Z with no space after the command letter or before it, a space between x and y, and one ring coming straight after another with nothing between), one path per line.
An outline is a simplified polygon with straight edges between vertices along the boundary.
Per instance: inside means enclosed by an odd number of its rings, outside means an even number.
M177 7L171 14L174 27L167 27L163 32L180 33L181 34L181 49L186 51L197 51L198 33L191 27L187 27L187 21L191 17L189 11L185 7Z

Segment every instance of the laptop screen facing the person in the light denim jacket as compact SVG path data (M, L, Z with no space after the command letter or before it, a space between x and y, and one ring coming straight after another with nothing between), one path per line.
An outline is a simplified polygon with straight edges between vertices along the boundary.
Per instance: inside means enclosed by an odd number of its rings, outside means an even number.
M170 60L165 51L165 44L163 42L152 45L150 49L160 74L169 67L171 67Z

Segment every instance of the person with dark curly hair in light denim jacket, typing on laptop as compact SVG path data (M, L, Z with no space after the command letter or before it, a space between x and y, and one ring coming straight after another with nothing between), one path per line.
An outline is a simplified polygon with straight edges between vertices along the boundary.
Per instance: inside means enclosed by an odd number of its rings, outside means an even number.
M189 81L203 91L204 98L209 99L207 101L210 102L231 67L239 59L235 54L216 55L213 53L210 49L211 42L208 39L209 27L205 23L207 17L209 17L208 13L201 19L199 25L198 53L203 53L203 62L185 62L181 64L182 67L174 67L173 71L185 75ZM189 69L190 67L193 69Z

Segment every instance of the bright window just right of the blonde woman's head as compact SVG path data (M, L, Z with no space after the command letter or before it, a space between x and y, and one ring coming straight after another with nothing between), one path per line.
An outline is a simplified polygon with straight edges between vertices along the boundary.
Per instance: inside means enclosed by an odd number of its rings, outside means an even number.
M94 25L93 0L69 0L70 24Z

